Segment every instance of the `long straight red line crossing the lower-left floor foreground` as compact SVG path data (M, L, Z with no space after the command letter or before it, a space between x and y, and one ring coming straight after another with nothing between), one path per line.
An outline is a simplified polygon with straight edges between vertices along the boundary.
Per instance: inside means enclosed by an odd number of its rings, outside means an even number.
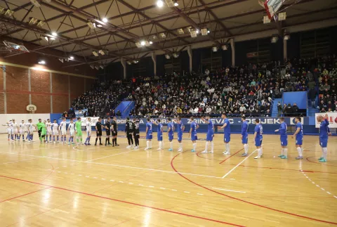
M34 181L27 181L27 180L23 180L23 179L16 179L16 178L13 178L11 176L0 175L0 177L3 177L5 179L12 179L12 180L15 180L15 181L22 181L22 182L26 182L26 183L33 183L33 184L40 185L40 186L48 186L49 188L55 188L55 189L59 189L59 190L65 190L65 191L68 191L68 192L79 193L81 195L88 195L88 196L91 196L91 197L98 197L98 198L105 199L105 200L112 200L114 202L121 202L121 203L124 203L124 204L134 205L134 206L137 206L137 207L145 207L145 208L150 208L150 209L156 209L156 210L161 211L161 212L168 212L168 213L171 213L171 214L179 214L179 215L183 215L183 216L193 217L193 218L196 218L196 219L202 219L202 220L205 220L205 221L213 221L213 222L217 222L217 223L224 223L224 224L227 224L227 225L230 225L230 226L244 227L244 226L241 226L241 225L238 225L238 224L229 223L229 222L225 222L225 221L219 221L219 220L216 220L216 219L208 219L208 218L205 218L205 217L202 217L202 216L195 216L195 215L192 215L192 214L185 214L185 213L182 213L182 212L175 212L175 211L172 211L172 210L169 210L169 209L158 208L158 207L151 207L151 206L147 206L147 205L141 205L141 204L138 204L136 202L128 202L128 201L124 201L124 200L117 200L117 199L114 199L114 198L111 198L111 197L94 195L94 194L91 194L91 193L84 193L84 192L80 192L80 191L77 191L77 190L71 190L71 189L67 189L67 188L61 188L61 187L57 187L57 186L49 186L49 185L44 184L44 183L37 183L37 182L34 182Z

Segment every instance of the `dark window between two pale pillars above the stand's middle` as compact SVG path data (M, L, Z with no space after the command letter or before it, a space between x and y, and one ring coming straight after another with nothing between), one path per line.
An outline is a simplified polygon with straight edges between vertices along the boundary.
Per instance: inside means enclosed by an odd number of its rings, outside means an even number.
M223 65L223 55L221 50L213 52L212 48L205 48L203 53L201 54L201 65L202 72L205 72L206 69L218 70Z

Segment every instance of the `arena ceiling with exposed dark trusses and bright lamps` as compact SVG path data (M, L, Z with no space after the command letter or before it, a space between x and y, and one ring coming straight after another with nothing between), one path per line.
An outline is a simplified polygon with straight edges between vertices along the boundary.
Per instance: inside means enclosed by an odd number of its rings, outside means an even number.
M283 27L337 18L336 0L286 1L283 6L286 20L268 24L263 24L265 9L257 0L177 2L178 6L164 4L159 8L157 0L0 0L0 6L4 8L0 15L0 36L39 45L29 49L32 52L43 54L53 48L61 51L53 55L55 58L75 56L72 65L95 65L122 57L139 59L154 51L171 54L203 42L211 41L212 45L221 46L231 37L242 34L275 28L282 32ZM7 9L13 11L13 15L6 15ZM29 24L32 18L37 21ZM103 18L107 18L107 22L101 23ZM40 20L45 24L37 25ZM95 23L95 29L91 29L88 22ZM188 27L194 30L206 28L209 34L199 33L192 38ZM183 34L178 32L180 28ZM57 33L55 39L53 32ZM136 43L141 41L152 44L139 48ZM100 50L104 55L98 53ZM94 56L93 51L98 56ZM4 58L18 54L7 53Z

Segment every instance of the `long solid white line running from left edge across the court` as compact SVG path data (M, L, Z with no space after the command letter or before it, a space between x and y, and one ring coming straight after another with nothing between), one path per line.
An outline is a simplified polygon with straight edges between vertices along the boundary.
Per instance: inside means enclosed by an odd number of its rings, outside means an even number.
M8 153L8 152L0 152L0 153L6 153L6 154L12 154L12 155L22 155L22 154ZM46 156L37 156L37 155L22 155L22 156L44 157L44 158L52 159L52 160L64 160L64 161L70 161L70 162L81 162L81 163L86 163L86 164L101 164L101 165L107 165L107 166L110 166L110 167L123 167L123 168L130 168L130 169L142 169L142 170L149 170L149 171L160 171L160 172L168 173L168 174L185 174L185 175L191 175L191 176L204 176L204 177L209 177L209 178L221 179L220 176L207 176L207 175L201 175L201 174L190 174L190 173L176 172L176 171L167 171L167 170L161 170L161 169L148 169L148 168L142 168L142 167L129 167L129 166L122 166L122 165L119 165L119 164L106 164L106 163L100 163L100 162L86 162L86 161L68 160L68 159L65 159L65 158L46 157Z

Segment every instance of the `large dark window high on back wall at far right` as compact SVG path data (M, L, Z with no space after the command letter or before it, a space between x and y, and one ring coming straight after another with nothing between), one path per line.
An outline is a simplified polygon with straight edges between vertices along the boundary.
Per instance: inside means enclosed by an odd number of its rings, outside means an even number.
M300 34L300 57L315 58L330 53L329 29L303 32Z

